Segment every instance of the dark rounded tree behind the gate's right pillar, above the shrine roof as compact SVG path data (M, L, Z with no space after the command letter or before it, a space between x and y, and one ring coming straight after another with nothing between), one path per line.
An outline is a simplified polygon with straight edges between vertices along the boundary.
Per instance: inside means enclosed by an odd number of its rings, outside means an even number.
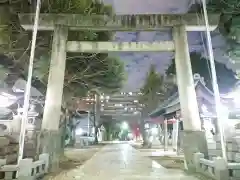
M206 83L206 86L212 90L212 79L209 60L200 53L190 53L192 72L200 74ZM237 82L236 74L228 69L224 64L215 61L217 80L220 92L228 92ZM171 65L166 70L166 74L176 74L175 59L172 59Z

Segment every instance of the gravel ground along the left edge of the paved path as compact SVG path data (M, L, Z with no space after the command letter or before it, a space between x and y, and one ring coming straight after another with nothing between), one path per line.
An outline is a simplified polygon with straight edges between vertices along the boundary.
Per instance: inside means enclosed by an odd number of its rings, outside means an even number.
M65 156L61 158L59 164L59 171L50 173L44 176L43 180L59 180L62 179L64 174L68 171L83 165L89 160L96 152L98 152L103 145L90 146L86 149L71 149L65 150Z

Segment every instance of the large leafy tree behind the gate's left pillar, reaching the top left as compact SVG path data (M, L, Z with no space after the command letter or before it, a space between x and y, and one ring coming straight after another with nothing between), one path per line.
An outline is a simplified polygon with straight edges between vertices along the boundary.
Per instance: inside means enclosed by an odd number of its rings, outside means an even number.
M14 3L13 3L14 2ZM1 21L9 28L5 29L1 36L9 36L11 43L5 39L2 44L2 52L13 62L15 69L18 69L18 75L27 76L29 45L31 32L24 31L18 21L17 14L29 13L33 11L34 4L25 1L11 1L1 10L2 19L10 21ZM10 11L11 9L11 11ZM4 12L4 14L2 13ZM7 13L6 13L7 12ZM94 3L89 0L70 0L70 1L42 1L42 13L77 13L83 15L91 14L111 14L112 8L102 3ZM3 14L3 16L2 16ZM3 31L3 30L2 30ZM79 31L69 33L69 40L84 41L108 41L111 40L110 32L92 32ZM1 42L1 41L0 41ZM34 82L33 84L44 86L37 87L46 90L48 67L50 62L52 32L38 32L37 45L34 63ZM77 68L76 68L77 67ZM92 88L98 88L101 91L118 91L124 80L124 68L122 62L108 54L96 53L68 53L65 72L64 97L68 99L72 96L84 96ZM16 72L15 72L16 73Z

